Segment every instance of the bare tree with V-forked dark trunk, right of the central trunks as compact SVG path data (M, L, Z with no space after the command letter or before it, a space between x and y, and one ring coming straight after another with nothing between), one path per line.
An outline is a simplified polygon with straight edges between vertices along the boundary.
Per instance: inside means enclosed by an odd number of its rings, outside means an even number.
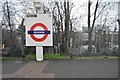
M94 12L93 14L91 14L91 5L93 2L91 2L90 0L88 1L88 52L91 53L92 50L92 44L93 44L93 29L95 26L95 23L97 21L97 19L99 18L100 15L103 15L103 13L108 10L108 8L113 7L113 4L110 4L110 2L102 2L100 0L97 0L95 3L95 8L94 8ZM93 16L93 21L91 21L91 17ZM106 14L106 19L104 20L104 25L106 24L107 21L107 14ZM91 24L92 22L92 24Z

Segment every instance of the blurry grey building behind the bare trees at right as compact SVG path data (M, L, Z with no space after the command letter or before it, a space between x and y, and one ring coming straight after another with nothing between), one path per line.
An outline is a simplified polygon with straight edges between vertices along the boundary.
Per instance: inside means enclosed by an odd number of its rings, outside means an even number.
M98 51L102 51L105 47L110 50L118 48L118 31L111 31L110 27L97 25L93 28L92 44ZM88 45L88 28L83 26L82 31L84 36L83 45Z

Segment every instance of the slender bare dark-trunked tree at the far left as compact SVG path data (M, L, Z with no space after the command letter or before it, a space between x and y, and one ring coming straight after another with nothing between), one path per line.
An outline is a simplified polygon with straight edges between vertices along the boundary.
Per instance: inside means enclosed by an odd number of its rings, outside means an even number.
M14 49L16 46L15 37L14 37L15 26L14 26L14 21L13 21L13 16L12 16L12 14L14 13L12 12L11 7L9 6L8 2L4 3L3 13L4 13L3 19L5 19L5 21L7 22L7 24L5 23L5 25L8 26L8 28L10 29L10 41L11 41L10 47Z

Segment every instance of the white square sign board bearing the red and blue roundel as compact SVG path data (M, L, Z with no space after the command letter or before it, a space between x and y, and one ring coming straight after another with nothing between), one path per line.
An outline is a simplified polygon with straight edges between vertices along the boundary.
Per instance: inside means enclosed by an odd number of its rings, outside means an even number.
M53 46L52 14L26 16L26 46Z

